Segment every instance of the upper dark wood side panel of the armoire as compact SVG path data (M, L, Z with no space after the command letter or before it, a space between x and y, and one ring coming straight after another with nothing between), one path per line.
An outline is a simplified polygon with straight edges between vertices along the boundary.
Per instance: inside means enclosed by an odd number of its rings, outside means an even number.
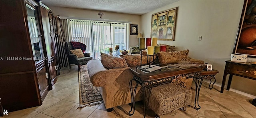
M1 58L18 57L18 60L1 60L1 74L36 70L34 60L23 59L33 57L24 1L0 0L0 5Z

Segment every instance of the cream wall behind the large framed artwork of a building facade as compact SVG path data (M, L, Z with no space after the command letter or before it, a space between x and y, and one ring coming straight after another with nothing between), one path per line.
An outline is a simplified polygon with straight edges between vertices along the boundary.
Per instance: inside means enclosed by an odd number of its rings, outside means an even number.
M243 0L181 0L141 16L142 34L150 37L151 15L178 7L175 41L158 41L189 49L189 56L204 60L219 71L216 82L222 83L225 61L234 47ZM198 36L202 41L198 41ZM254 60L256 61L256 60ZM228 78L226 80L226 83ZM231 88L256 95L256 81L233 76Z

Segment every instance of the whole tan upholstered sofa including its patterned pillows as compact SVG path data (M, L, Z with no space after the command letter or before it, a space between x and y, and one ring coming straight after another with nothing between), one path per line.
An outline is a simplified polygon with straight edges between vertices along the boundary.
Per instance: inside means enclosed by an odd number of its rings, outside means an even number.
M171 55L174 54L175 56L170 56L169 52L160 52L159 59L162 59L160 62L166 64L170 62L178 63L180 61L188 62L188 60L190 63L204 64L204 61L187 57L188 52L189 50L170 52ZM162 57L163 55L166 55L166 57ZM174 58L180 58L181 60ZM166 61L164 61L164 59L166 59ZM131 103L129 82L132 80L133 74L130 71L130 67L140 65L140 60L140 55L120 55L120 58L118 58L102 53L101 60L90 60L87 63L90 81L93 86L100 87L100 92L108 111L111 111L113 107ZM149 60L147 56L142 56L142 64L146 64L147 60ZM190 87L192 81L189 82L189 84L190 85L187 84L187 86ZM132 85L135 86L136 83L134 82ZM141 91L141 86L139 85L136 90L136 101L142 100Z

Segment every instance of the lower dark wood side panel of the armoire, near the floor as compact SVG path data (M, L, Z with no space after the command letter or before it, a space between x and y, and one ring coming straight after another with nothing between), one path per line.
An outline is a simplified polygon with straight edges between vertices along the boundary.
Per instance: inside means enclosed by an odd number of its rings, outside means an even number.
M33 79L34 78L34 79ZM16 74L0 78L1 103L8 112L40 106L42 99L36 73Z

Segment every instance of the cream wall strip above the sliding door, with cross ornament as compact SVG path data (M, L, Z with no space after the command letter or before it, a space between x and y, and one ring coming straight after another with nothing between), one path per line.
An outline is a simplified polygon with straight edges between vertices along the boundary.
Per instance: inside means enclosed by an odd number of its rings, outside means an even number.
M84 10L84 9L75 9L75 8L65 8L65 7L55 7L48 5L54 16L65 16L65 17L75 17L75 18L87 18L87 19L100 19L98 13L100 11L96 10ZM132 22L132 24L138 24L138 32L140 32L141 25L140 25L140 16L133 15L133 14L121 14L121 13L113 13L113 12L104 12L102 19L106 20L117 20L117 21L126 21ZM101 20L102 20L101 19ZM130 26L129 26L130 27ZM129 35L129 46L136 46L137 42L137 35Z

